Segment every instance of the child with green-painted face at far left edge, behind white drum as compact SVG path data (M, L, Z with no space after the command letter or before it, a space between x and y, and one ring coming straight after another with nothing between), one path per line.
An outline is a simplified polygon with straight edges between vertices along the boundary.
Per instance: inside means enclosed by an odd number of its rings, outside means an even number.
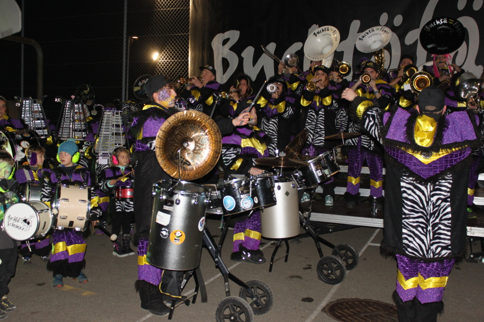
M7 208L18 202L15 194L17 181L12 179L14 159L5 150L0 150L0 225L3 225L3 216ZM3 229L0 230L0 320L8 316L8 312L17 308L7 298L8 283L15 275L17 263L17 247L19 241L12 239Z

